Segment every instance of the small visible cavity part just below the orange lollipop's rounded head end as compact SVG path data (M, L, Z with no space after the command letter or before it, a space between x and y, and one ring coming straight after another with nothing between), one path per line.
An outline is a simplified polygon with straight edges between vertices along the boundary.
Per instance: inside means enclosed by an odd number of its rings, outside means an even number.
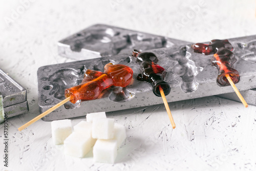
M126 102L130 101L135 97L135 93L122 87L112 88L112 92L109 95L109 99L115 102Z

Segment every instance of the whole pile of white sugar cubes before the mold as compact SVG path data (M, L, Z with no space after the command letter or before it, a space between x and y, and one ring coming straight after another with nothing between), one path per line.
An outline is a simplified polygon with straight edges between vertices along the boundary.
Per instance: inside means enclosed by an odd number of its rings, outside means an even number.
M52 121L52 139L55 145L64 144L65 154L82 158L93 147L95 162L114 163L117 149L126 138L125 127L106 118L105 112L90 113L87 121L74 126L70 119Z

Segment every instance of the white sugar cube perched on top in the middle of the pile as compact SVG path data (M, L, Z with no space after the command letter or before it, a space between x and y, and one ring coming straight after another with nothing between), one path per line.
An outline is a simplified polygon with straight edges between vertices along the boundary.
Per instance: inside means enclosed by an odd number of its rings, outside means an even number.
M113 118L94 118L92 137L97 139L113 139L114 122L115 120Z

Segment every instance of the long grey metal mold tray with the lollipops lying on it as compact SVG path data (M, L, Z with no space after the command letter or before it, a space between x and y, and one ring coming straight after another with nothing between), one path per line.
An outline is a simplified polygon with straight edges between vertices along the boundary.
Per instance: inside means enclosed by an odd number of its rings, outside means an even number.
M255 51L254 49L245 51L240 46L241 43L247 44L254 40L256 40L256 36L229 39L237 59L234 68L240 72L241 76L241 81L236 84L240 91L256 88L256 63L244 57ZM166 96L167 101L173 102L233 92L231 86L219 87L217 85L218 70L211 66L212 55L194 53L190 46L174 46L146 51L155 53L159 59L158 64L167 71L165 80L172 88L170 94ZM180 61L182 64L179 63ZM149 83L136 79L140 73L140 65L136 63L136 58L132 56L132 53L129 53L40 67L37 71L40 113L63 100L65 89L79 84L86 69L102 71L104 65L109 62L121 63L133 69L134 79L129 86L124 89L105 90L101 98L83 101L81 104L68 102L42 119L52 121L84 116L91 112L118 111L162 103L162 98L154 95ZM185 74L179 76L182 70L185 71Z

